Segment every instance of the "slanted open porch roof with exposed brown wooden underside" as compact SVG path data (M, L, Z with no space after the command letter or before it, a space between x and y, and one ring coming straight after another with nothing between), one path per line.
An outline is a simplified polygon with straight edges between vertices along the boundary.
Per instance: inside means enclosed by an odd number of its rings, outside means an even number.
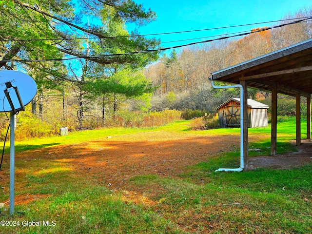
M212 79L290 96L311 97L312 39L212 73Z

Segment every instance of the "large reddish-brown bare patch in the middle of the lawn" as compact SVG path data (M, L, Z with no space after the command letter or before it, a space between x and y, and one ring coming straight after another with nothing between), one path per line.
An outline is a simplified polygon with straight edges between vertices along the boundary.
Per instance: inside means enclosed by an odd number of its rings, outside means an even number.
M153 136L150 136L151 138ZM115 141L53 147L40 155L61 161L81 176L95 175L113 189L125 189L140 175L176 176L186 167L239 147L239 137L189 137L174 140Z

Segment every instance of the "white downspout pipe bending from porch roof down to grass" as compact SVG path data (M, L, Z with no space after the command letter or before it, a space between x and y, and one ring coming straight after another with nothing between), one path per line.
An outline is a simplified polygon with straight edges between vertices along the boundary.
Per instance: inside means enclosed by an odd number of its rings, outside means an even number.
M229 89L229 88L240 88L240 167L239 168L219 168L216 172L241 172L244 170L244 128L243 128L243 119L244 119L244 89L240 84L229 85L229 86L215 86L215 80L209 78L212 82L211 85L215 89Z

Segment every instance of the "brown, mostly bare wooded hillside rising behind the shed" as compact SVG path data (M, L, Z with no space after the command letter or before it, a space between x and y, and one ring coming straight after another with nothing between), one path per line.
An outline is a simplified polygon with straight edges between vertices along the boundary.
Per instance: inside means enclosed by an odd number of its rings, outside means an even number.
M289 14L284 19L311 15L310 7L294 15ZM311 20L257 32L259 29L253 29L251 32L255 33L240 39L216 40L186 47L180 52L173 50L169 56L165 54L158 62L149 65L144 74L157 87L154 92L155 108L214 111L219 104L239 94L235 90L212 89L208 80L211 73L312 38ZM168 105L167 99L173 99L173 93L175 101ZM249 90L253 98L256 94L256 90ZM269 94L262 92L261 96L268 97Z

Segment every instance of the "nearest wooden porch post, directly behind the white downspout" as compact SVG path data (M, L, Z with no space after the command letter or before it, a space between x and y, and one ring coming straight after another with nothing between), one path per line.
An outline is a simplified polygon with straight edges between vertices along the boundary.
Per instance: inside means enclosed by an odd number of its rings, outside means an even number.
M247 82L245 80L240 81L240 84L243 86L244 89L244 97L243 104L244 104L244 119L243 119L243 129L244 129L244 171L248 170L248 105L247 105L247 99L248 99L248 92L247 92Z

